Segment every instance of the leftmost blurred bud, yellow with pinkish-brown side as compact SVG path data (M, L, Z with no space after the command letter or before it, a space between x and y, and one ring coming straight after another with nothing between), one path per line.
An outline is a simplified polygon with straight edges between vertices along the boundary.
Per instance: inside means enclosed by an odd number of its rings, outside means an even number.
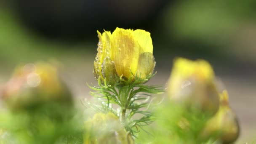
M17 67L0 95L12 109L32 107L47 101L72 101L71 93L59 79L56 67L42 62Z

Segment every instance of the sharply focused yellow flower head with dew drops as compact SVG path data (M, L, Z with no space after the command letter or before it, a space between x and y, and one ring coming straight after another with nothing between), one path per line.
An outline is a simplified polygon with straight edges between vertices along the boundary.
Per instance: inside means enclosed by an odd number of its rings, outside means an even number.
M134 75L145 79L151 75L155 60L150 33L141 29L116 28L115 31L99 31L98 53L94 61L94 74L101 82L118 83L120 77L134 80Z

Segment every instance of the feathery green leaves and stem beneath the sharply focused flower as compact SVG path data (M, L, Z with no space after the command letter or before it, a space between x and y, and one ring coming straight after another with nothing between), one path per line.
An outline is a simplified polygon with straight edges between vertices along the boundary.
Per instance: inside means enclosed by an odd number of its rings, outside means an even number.
M143 126L149 125L155 120L152 112L149 111L150 97L151 94L163 93L163 90L160 89L161 86L142 84L153 76L150 75L144 80L136 77L134 81L123 80L120 77L123 85L118 86L107 85L106 79L104 84L101 84L100 80L98 80L99 87L94 85L89 87L94 90L91 95L101 101L101 106L93 105L92 107L98 112L113 112L120 117L120 121L124 124L126 131L135 136L139 129L144 130ZM119 107L114 109L112 104ZM137 114L139 116L134 118Z

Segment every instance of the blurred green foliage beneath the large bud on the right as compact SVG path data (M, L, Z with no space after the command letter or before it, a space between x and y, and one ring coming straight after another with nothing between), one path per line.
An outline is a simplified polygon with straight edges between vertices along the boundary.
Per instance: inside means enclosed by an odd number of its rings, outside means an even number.
M187 109L170 101L162 103L154 111L157 120L140 132L136 143L146 144L219 144L214 135L203 138L202 130L210 115L203 115L197 109Z

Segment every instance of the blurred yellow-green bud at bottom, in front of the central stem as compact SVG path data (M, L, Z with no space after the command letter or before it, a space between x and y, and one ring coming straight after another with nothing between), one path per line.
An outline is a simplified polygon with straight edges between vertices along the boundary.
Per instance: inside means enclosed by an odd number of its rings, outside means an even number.
M109 112L96 113L85 122L84 144L133 144L131 135L125 131L118 117Z

